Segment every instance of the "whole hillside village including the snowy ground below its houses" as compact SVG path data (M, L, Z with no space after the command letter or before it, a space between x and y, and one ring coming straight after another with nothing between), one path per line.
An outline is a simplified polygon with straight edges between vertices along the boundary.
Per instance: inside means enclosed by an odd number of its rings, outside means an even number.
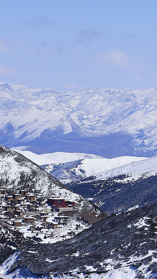
M40 196L28 190L0 188L0 220L25 238L55 243L73 237L89 225L70 217L84 205L60 196Z

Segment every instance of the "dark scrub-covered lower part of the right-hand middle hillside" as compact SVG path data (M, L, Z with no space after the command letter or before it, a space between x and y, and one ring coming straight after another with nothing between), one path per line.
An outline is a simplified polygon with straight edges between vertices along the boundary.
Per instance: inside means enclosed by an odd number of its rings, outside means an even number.
M128 182L124 182L124 179ZM134 181L129 175L119 175L104 180L89 177L89 180L68 184L76 193L90 197L92 203L102 210L120 213L129 208L151 205L157 197L157 174Z

